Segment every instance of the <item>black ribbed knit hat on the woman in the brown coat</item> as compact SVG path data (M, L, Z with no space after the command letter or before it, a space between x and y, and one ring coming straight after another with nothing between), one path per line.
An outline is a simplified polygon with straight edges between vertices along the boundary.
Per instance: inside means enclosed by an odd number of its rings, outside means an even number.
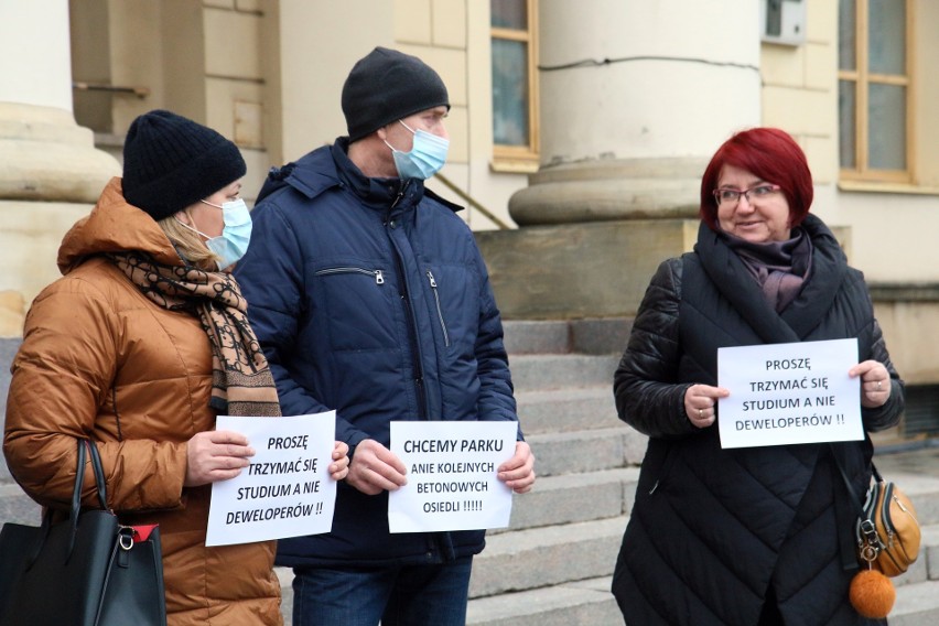
M133 120L123 143L123 197L163 219L245 175L238 147L171 111Z

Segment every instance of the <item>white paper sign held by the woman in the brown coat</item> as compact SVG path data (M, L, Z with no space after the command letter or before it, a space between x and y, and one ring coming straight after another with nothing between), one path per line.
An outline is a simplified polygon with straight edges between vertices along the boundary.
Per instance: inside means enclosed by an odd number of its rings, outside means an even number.
M247 436L255 456L237 477L212 484L205 544L330 532L336 506L336 482L330 477L335 415L218 415L216 429Z

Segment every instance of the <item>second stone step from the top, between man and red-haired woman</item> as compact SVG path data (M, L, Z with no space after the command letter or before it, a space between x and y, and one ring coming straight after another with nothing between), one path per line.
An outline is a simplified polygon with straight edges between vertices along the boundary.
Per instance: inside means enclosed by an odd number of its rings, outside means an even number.
M516 391L606 386L613 393L616 355L538 354L509 356Z

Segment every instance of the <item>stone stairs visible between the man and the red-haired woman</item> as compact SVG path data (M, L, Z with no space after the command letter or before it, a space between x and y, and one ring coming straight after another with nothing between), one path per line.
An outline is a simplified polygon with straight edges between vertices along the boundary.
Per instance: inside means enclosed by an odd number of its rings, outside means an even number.
M613 373L629 324L507 322L518 413L538 481L515 496L473 566L467 624L622 624L609 576L645 438L616 418Z

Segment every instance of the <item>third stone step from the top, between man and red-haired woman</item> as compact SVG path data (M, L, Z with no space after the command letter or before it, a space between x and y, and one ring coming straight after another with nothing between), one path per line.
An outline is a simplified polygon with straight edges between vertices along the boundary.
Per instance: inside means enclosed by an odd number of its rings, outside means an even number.
M519 391L518 419L526 435L622 427L613 386Z

